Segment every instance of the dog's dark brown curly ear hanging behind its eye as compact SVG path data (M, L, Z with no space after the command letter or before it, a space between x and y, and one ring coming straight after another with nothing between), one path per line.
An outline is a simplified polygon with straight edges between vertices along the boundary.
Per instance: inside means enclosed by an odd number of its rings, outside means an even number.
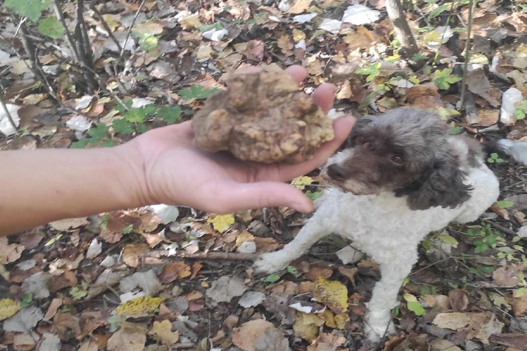
M458 160L452 155L444 155L437 158L419 180L399 189L396 195L408 195L411 210L436 206L455 208L470 198L472 188L463 180L465 173L459 169Z

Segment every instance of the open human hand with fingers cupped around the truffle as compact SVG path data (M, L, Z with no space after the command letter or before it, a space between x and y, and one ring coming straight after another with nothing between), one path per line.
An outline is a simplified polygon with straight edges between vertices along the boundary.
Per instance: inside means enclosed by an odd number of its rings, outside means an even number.
M285 70L301 82L307 72L301 66ZM333 106L334 88L322 84L312 98L327 112ZM226 152L206 154L194 146L189 121L151 130L123 145L139 155L143 174L143 202L185 205L211 213L270 206L289 206L310 212L313 204L301 191L285 181L308 173L335 152L348 136L353 117L333 122L335 138L323 144L313 158L294 165L260 165L237 160Z

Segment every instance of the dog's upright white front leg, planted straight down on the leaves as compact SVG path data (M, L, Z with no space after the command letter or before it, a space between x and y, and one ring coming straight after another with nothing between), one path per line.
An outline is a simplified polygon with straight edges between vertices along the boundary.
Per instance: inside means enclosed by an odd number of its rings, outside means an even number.
M391 311L397 306L399 289L416 261L417 250L400 250L397 256L380 265L381 280L375 284L371 300L366 304L364 330L370 343L377 343L385 334L395 333Z

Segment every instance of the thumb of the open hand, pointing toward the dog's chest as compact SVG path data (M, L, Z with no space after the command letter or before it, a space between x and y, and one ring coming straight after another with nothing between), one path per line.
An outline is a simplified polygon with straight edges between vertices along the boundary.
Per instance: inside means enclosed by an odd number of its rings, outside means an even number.
M313 210L313 203L302 191L281 182L237 183L226 198L227 207L233 212L274 206L287 206L303 213Z

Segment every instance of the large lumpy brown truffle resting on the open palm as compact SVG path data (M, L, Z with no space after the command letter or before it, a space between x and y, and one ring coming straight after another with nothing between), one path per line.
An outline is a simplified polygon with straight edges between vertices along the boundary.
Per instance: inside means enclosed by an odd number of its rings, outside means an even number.
M277 66L232 75L227 90L196 113L192 128L205 152L229 150L264 163L301 162L333 140L331 119Z

